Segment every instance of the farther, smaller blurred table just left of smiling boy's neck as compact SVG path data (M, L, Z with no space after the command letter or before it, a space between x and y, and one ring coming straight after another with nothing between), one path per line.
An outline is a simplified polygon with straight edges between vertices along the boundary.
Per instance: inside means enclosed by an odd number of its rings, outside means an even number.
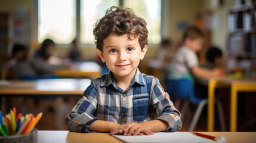
M84 61L72 64L69 69L55 70L60 77L98 77L101 75L101 67L94 61Z

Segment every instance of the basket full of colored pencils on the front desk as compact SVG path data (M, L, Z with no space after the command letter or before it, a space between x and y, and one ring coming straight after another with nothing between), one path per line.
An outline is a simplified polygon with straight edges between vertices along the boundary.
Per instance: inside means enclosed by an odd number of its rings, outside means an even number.
M5 116L0 111L0 142L36 142L35 126L41 117L42 113L36 116L33 114L22 116L18 113L16 116L16 108Z

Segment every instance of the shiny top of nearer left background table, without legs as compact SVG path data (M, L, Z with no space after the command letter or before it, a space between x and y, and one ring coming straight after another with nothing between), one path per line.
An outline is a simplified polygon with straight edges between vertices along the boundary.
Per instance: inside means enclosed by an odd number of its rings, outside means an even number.
M2 95L82 95L90 85L90 79L41 79L41 80L1 80L0 94Z

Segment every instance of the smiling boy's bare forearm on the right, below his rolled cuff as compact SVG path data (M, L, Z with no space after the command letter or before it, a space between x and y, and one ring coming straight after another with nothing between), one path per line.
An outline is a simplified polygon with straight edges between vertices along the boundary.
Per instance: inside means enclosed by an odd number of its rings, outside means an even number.
M168 123L164 120L150 120L147 122L141 122L145 128L151 130L152 132L161 132L168 128Z

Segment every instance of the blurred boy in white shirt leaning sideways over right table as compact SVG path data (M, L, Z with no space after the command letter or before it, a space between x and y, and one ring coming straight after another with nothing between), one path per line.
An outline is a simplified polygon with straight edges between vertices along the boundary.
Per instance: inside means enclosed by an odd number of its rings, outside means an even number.
M199 67L196 52L202 49L203 33L196 27L188 27L183 35L183 46L178 49L172 59L169 71L173 79L187 78L193 83L196 77L217 77L221 72L219 69L202 69Z

